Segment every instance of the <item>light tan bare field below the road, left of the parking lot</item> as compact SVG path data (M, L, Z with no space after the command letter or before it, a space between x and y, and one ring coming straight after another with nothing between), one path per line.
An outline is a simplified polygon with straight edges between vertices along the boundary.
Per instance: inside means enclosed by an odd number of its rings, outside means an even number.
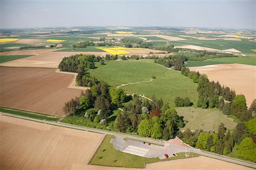
M1 169L93 168L87 164L104 138L4 115L0 115L0 127Z

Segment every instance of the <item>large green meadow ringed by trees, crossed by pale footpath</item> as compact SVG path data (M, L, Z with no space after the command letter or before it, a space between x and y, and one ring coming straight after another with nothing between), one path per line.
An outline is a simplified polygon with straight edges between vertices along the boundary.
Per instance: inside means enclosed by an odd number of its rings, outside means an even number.
M197 83L183 76L180 71L169 70L166 67L151 63L150 59L109 61L106 65L89 70L91 76L106 81L111 86L117 87L122 84L135 83L138 81L150 82L131 84L121 87L126 93L145 94L151 98L155 95L157 99L163 98L164 103L174 107L174 99L177 96L189 97L195 103L198 99Z

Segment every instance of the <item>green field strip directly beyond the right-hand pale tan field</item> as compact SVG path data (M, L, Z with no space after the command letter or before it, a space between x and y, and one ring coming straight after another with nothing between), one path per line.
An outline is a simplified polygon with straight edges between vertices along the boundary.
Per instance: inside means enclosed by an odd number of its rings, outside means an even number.
M247 65L256 65L256 57L223 57L223 58L213 58L207 59L203 62L196 61L187 61L187 67L196 67L196 66L205 66L205 65L214 65L214 64L247 64Z

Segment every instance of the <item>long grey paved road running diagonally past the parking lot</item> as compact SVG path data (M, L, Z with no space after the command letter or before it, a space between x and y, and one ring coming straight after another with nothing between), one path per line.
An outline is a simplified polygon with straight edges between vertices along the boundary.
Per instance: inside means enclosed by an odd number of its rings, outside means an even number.
M94 129L94 128L87 128L87 127L81 127L81 126L57 123L57 122L53 122L53 121L38 120L38 119L27 118L27 117L22 117L22 116L19 116L19 115L14 115L14 114L8 114L8 113L0 112L0 118L3 115L10 116L10 117L15 117L15 118L26 119L26 120L37 121L39 123L44 123L44 124L49 124L49 125L73 128L73 129L76 129L76 130L90 131L90 132L96 132L96 133L102 133L102 134L111 134L111 135L116 136L117 138L131 138L131 139L143 140L143 141L146 141L146 142L151 142L151 143L155 143L155 144L159 144L159 145L165 145L165 142L163 142L163 141L153 140L153 139L150 139L150 138L135 137L135 136L130 135L130 134L123 134L123 133L117 133L117 132L97 130L97 129ZM170 144L169 147L175 147L176 149L180 149L180 150L186 151L185 147L178 146L178 145ZM191 148L190 152L198 153L200 155L204 155L206 157L210 157L210 158L214 158L214 159L219 159L219 160L223 160L223 161L227 161L227 162L232 162L232 163L238 164L238 165L243 165L243 166L247 166L247 167L256 168L256 164L251 164L250 162L240 161L240 160L237 160L237 159L231 159L231 158L223 157L223 156L212 154L212 153L207 153L207 152L204 152L204 151L200 151L199 149Z

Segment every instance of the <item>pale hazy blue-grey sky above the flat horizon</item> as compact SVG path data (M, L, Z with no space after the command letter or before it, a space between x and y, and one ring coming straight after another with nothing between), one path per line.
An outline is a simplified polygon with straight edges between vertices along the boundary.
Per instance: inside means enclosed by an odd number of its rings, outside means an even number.
M256 29L256 0L0 0L0 28L171 26Z

